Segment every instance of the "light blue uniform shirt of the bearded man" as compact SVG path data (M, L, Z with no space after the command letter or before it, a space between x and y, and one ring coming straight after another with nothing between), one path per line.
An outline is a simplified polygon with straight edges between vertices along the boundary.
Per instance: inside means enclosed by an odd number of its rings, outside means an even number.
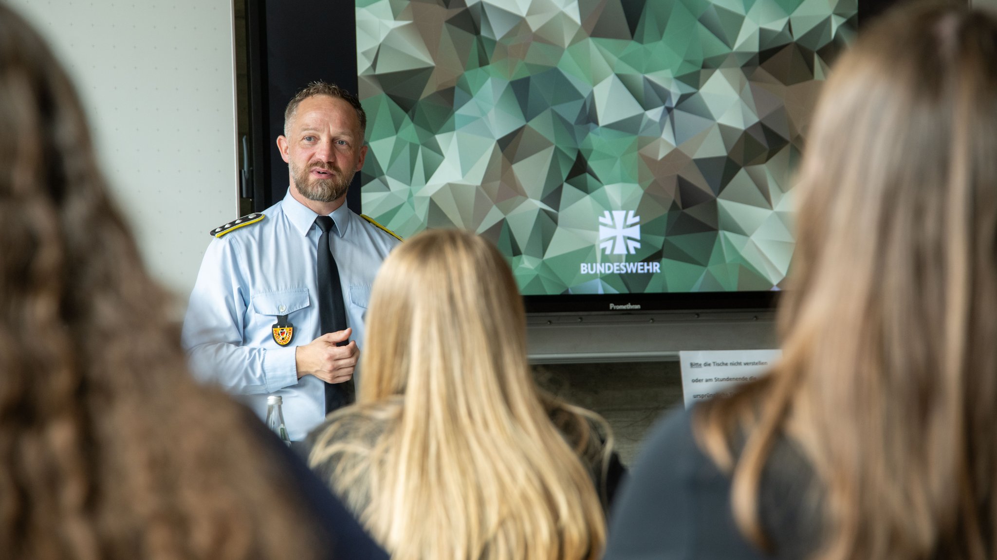
M291 439L304 439L325 418L324 382L297 377L295 347L320 335L317 247L318 216L288 190L263 211L262 221L215 238L207 247L190 293L181 343L194 376L240 397L260 419L266 397L283 399ZM399 241L343 204L329 214L351 339L363 351L364 314L381 262ZM273 340L277 317L287 315L294 338ZM354 374L361 383L359 369Z

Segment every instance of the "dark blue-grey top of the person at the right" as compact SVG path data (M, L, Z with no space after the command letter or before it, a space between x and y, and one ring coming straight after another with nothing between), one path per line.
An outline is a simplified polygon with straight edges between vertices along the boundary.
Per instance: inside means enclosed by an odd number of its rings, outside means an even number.
M692 415L674 412L653 428L620 491L605 558L805 558L819 544L814 481L803 453L780 439L760 486L762 526L776 547L766 554L738 529L730 474L699 448Z

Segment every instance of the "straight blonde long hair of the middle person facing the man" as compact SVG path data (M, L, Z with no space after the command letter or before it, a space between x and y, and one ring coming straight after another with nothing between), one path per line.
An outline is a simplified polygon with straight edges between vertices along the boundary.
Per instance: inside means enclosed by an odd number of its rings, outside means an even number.
M498 250L459 230L413 237L384 262L367 318L358 408L388 427L370 448L344 440L344 410L310 462L352 455L331 483L394 558L598 558L599 498L534 385Z

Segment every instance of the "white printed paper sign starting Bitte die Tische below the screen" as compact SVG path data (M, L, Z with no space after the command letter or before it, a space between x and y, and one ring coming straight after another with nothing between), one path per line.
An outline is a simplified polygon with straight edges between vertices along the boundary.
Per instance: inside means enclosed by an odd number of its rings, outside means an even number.
M686 409L764 375L782 350L699 350L679 352Z

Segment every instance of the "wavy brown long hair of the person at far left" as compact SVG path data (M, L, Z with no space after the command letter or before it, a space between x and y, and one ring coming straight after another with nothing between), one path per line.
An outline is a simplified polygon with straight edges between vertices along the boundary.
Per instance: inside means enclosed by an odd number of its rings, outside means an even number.
M0 245L0 557L313 556L249 415L188 376L61 65L3 5Z

